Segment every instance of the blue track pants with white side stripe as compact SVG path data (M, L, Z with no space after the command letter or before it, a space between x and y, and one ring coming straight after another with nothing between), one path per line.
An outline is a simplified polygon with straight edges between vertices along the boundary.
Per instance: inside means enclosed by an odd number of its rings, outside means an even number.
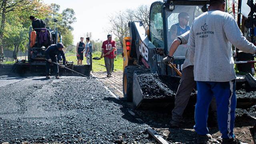
M209 133L207 127L208 109L213 97L216 98L218 127L222 138L234 138L236 111L236 81L230 82L196 82L197 101L194 129L197 134Z

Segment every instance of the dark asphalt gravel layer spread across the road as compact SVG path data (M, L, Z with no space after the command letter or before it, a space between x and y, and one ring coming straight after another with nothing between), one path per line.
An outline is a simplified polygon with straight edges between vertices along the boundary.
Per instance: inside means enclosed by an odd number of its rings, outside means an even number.
M155 143L95 79L26 78L0 87L0 101L0 143Z

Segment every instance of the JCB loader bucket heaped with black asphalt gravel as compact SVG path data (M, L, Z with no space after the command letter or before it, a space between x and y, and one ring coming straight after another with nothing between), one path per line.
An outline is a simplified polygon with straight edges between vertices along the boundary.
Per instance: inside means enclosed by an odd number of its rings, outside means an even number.
M174 107L175 95L180 83L179 77L158 74L134 74L133 103L136 109L158 109ZM256 88L247 84L237 85L237 108L247 109L256 105ZM196 93L190 96L188 107L196 104Z

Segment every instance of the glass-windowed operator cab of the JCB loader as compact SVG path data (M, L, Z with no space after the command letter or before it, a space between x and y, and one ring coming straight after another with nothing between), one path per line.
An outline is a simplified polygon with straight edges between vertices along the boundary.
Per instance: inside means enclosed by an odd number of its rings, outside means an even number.
M207 11L208 3L208 0L164 0L164 2L154 2L150 8L150 41L155 47L163 48L164 53L168 54L174 39L190 29L194 19ZM186 26L183 25L184 27L179 27L179 23L184 20L178 17L180 13L189 15L186 18ZM175 32L173 28L176 28ZM186 30L183 30L185 28ZM180 45L174 53L174 58L180 70L186 51L187 46Z

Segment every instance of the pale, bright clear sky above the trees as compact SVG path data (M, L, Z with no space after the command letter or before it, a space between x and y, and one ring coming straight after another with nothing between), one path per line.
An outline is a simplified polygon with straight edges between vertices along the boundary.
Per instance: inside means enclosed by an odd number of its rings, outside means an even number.
M126 9L136 9L142 4L151 5L157 0L44 0L44 3L60 5L60 12L72 8L76 13L76 23L73 24L74 44L92 33L92 39L106 40L109 27L108 16ZM113 35L114 38L114 35Z

